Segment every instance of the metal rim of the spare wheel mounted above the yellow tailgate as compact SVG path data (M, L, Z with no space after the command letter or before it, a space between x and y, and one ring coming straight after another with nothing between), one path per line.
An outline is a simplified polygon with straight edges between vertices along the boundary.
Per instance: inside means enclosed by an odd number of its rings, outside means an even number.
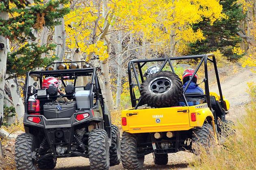
M154 94L163 94L172 88L172 81L168 77L157 77L148 85L148 89Z

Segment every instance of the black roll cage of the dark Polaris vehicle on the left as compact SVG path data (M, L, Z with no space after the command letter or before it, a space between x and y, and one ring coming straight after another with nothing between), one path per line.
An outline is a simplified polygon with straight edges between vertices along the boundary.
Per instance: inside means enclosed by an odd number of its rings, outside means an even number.
M76 63L76 62L54 62L49 64L60 64L60 63ZM96 75L96 68L77 68L77 69L65 69L65 70L46 70L46 71L29 71L26 73L26 82L25 82L25 89L24 89L24 104L25 104L25 114L27 114L27 105L28 105L28 87L29 87L29 77L38 77L40 82L40 88L42 85L42 78L43 76L52 76L52 77L78 77L78 76L91 76L91 87L90 87L90 107L93 108L93 87L95 86L95 96L97 98L102 98L101 89L99 86L98 77ZM76 79L74 80L74 86L76 83ZM65 86L65 83L63 83ZM70 95L57 95L54 97L68 97ZM102 100L103 101L103 98ZM102 108L104 108L102 104Z

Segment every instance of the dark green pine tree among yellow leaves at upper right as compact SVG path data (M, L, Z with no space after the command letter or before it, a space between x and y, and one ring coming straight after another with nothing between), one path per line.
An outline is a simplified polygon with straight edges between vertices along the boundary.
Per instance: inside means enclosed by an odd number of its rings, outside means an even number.
M239 57L232 53L232 49L241 42L241 38L236 34L239 32L239 21L244 19L245 15L237 0L220 0L219 3L223 6L222 12L226 14L226 19L217 20L213 25L210 25L208 19L194 24L193 29L201 29L206 39L191 43L190 54L209 53L219 49L230 59Z

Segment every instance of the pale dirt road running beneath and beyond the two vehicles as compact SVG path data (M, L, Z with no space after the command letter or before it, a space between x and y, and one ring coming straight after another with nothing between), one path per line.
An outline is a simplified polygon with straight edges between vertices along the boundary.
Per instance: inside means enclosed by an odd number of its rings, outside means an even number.
M230 115L227 119L236 119L245 114L245 104L249 102L249 95L246 93L247 82L256 82L256 74L252 73L249 69L239 70L235 74L228 74L230 68L224 69L222 74L226 74L223 77L228 77L225 81L221 82L221 88L223 95L230 101ZM210 91L218 91L217 85L210 87ZM187 152L178 152L175 154L169 154L168 164L165 166L155 166L152 154L145 156L145 162L143 169L150 170L169 170L169 169L189 169L188 164L193 160L193 154ZM83 157L76 158L63 158L58 159L57 170L89 170L89 160ZM124 169L121 164L113 166L111 170Z

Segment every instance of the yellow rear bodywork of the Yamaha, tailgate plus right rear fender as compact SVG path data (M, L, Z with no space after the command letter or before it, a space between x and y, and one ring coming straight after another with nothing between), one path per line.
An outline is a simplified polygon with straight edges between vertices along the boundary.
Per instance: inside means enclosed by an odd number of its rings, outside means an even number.
M132 115L129 116L129 113ZM196 121L191 121L191 113L196 113ZM214 120L213 113L207 104L189 107L129 109L123 110L121 114L121 117L126 117L127 120L127 125L122 126L123 131L129 133L189 130L197 126L202 127L208 116Z

